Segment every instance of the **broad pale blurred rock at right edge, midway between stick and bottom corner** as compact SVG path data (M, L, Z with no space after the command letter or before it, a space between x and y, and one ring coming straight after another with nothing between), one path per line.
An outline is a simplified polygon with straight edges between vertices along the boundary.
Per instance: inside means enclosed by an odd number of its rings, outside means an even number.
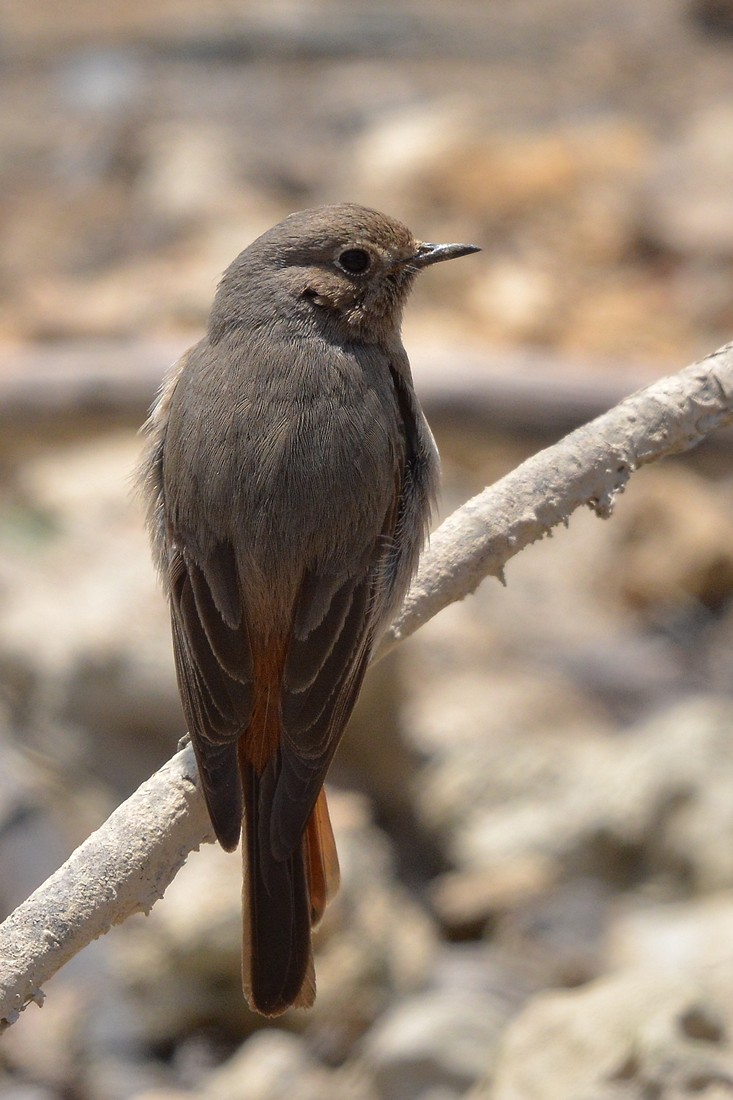
M729 703L700 698L622 739L494 727L485 743L431 769L420 784L424 812L467 869L488 873L539 854L558 878L617 886L672 875L699 889L725 887L732 725Z

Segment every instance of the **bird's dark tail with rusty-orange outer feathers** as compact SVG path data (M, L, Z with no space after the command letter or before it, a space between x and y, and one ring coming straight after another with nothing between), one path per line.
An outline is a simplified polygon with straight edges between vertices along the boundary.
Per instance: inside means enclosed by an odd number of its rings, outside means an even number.
M242 837L242 987L250 1008L278 1016L291 1005L309 1008L316 997L310 930L339 882L333 833L321 791L299 848L286 859L270 854L269 798L264 776L241 761L244 791Z

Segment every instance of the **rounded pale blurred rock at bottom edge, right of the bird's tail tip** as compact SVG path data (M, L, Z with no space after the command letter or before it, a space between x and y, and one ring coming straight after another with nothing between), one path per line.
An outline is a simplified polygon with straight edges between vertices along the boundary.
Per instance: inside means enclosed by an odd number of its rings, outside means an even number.
M426 992L382 1016L365 1036L362 1059L383 1100L458 1100L491 1065L503 1024L491 999Z

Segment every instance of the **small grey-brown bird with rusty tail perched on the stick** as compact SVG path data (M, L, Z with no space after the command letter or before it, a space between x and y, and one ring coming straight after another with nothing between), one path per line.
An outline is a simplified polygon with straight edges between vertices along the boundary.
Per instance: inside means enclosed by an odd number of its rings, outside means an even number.
M227 850L243 815L242 983L264 1015L315 998L339 881L324 781L436 490L403 306L424 267L478 251L351 204L292 215L227 270L146 425L178 686Z

